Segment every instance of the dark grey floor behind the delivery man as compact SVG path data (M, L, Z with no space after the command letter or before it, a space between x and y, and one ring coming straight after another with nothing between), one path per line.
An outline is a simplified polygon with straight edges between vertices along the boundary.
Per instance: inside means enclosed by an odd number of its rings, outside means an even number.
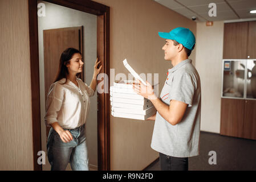
M217 164L209 164L210 151L216 152ZM159 171L159 159L145 170ZM189 170L256 170L256 140L201 131L200 155L189 158Z

